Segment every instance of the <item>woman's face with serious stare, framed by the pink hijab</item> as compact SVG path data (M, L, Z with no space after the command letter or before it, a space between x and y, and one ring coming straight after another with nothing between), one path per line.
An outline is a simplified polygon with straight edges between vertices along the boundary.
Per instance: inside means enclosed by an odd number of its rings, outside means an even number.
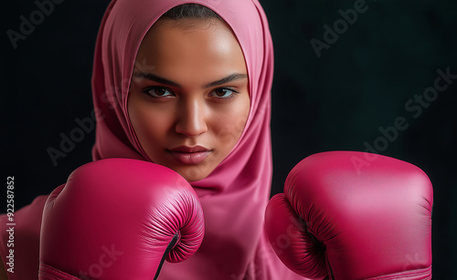
M248 84L241 48L224 22L157 21L139 48L128 98L143 150L187 181L206 178L244 129Z

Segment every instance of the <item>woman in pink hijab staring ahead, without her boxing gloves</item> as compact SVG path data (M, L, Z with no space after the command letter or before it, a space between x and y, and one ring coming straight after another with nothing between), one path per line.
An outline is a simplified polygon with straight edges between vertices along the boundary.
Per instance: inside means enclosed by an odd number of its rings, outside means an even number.
M303 279L279 261L263 233L273 71L266 17L256 0L193 3L109 5L92 77L93 160L153 161L180 173L197 192L203 244L186 262L165 263L159 279ZM37 275L45 200L16 213L23 224L10 279ZM32 213L37 219L21 218ZM5 242L1 249L5 257Z

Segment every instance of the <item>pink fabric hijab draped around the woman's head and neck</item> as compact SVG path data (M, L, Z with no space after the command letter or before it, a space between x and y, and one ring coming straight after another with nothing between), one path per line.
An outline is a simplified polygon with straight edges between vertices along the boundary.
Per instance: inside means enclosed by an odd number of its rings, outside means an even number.
M103 16L95 49L93 160L150 161L127 111L135 57L154 22L175 5L189 2L215 11L237 36L249 73L250 115L228 157L206 179L191 182L205 214L203 244L186 262L165 263L159 279L303 279L279 261L263 233L271 191L273 48L258 0L113 0Z

